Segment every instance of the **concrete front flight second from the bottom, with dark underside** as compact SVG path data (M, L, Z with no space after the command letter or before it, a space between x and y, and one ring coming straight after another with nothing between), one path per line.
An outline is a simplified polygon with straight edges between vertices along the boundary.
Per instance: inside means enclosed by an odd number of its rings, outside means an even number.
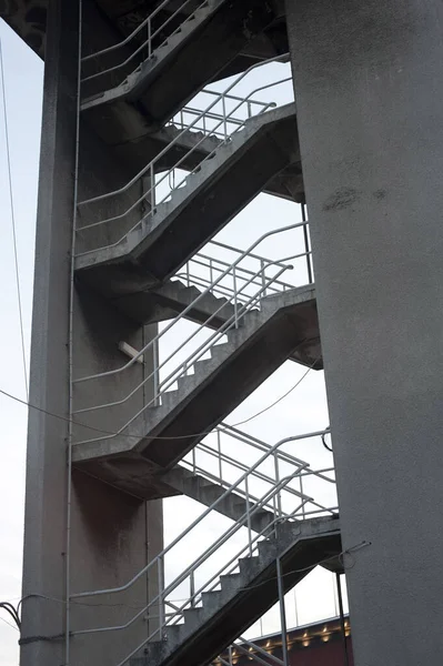
M74 464L145 496L153 470L159 474L172 468L201 433L215 427L291 354L311 357L311 365L320 359L313 290L264 299L261 311L248 313L242 327L228 331L226 340L212 347L208 360L194 364L194 374L180 377L178 389L162 396L162 405L144 410L124 433L74 445Z

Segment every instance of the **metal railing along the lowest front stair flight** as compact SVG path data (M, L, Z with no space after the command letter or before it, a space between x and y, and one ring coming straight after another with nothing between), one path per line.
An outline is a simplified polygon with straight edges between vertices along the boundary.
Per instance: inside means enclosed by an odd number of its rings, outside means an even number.
M120 625L104 626L104 627L92 627L92 628L79 628L72 630L71 635L84 635L95 634L102 632L115 632L124 630L132 626L135 622L147 619L149 617L159 618L159 626L149 634L123 660L119 662L118 666L123 666L132 658L140 649L147 645L150 640L158 637L161 639L164 636L164 629L167 626L175 625L183 619L183 613L187 608L194 608L201 604L202 594L205 592L212 592L220 585L220 576L225 576L234 573L239 567L239 558L253 556L256 553L259 543L266 538L274 529L275 526L282 521L300 521L305 519L308 516L313 515L333 515L338 507L322 506L314 502L313 497L304 493L292 488L291 497L292 504L288 511L282 509L281 495L286 492L288 487L291 487L294 481L296 482L300 474L312 474L318 473L310 470L310 465L295 456L291 456L291 467L285 470L285 475L281 478L275 476L271 490L266 490L260 498L252 497L249 493L249 482L252 475L256 474L263 464L268 461L272 462L272 466L275 460L280 460L278 452L279 450L289 442L300 442L301 440L308 440L312 437L319 437L328 433L329 431L318 431L303 435L295 435L281 440L273 446L269 446L265 453L246 470L234 483L232 483L224 493L209 507L207 508L189 527L187 527L182 534L180 534L173 542L167 546L157 557L154 557L149 564L147 564L138 574L135 574L127 584L119 587L112 587L107 589L88 591L71 595L71 599L79 599L84 597L98 597L101 595L110 595L122 593L132 587L142 576L150 573L157 573L160 581L159 593L150 599L145 606L139 609L128 622ZM285 461L288 463L288 460ZM321 473L320 478L324 478ZM328 478L331 483L331 480ZM239 488L242 488L245 496L245 512L243 515L233 523L228 529L225 529L220 536L218 536L213 543L205 547L205 549L180 573L171 583L164 585L163 575L167 556L173 553L173 549L178 547L181 553L181 559L183 557L183 539L190 535L194 529L202 526L204 518L207 518L213 511L217 511L218 506L224 502L230 495L238 494ZM312 505L313 508L308 509L306 507ZM251 518L263 507L272 512L269 524L256 534L252 534ZM245 527L246 529L242 529ZM239 547L240 539L240 547ZM228 562L224 562L219 567L221 548L231 544L230 555ZM234 555L231 553L234 551ZM208 562L212 555L217 555L210 573L208 573ZM184 602L177 603L173 601L173 595L178 594L181 598L183 597L183 584L187 585L188 593L185 594ZM171 608L170 613L165 613L165 607Z

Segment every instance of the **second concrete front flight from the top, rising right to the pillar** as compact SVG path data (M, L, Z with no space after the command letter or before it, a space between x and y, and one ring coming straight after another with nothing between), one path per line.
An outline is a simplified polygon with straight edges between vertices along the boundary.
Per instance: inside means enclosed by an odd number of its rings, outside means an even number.
M294 104L250 119L137 228L123 219L80 231L78 278L111 297L133 292L138 281L147 287L164 282L276 173L299 161ZM80 230L101 219L94 218L99 209L83 212Z

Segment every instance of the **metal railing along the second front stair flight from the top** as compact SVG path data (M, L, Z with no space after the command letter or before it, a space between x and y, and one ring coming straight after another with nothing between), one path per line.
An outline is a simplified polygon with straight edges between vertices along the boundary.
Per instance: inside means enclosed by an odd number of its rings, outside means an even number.
M261 85L260 88L255 88L254 90L252 90L250 93L248 93L244 97L236 97L236 95L230 94L231 91L236 85L242 83L244 81L244 79L251 72L256 70L258 68L265 67L266 64L270 64L273 62L285 62L285 60L286 60L286 56L279 56L276 58L268 60L266 62L260 62L260 63L255 63L255 64L251 65L248 70L242 72L226 88L226 90L224 90L221 93L214 93L214 95L213 95L214 99L209 104L209 107L207 107L204 110L202 110L198 114L195 114L192 122L190 124L188 124L171 141L171 143L169 143L163 150L161 150L153 160L151 160L143 169L141 169L124 185L122 185L121 188L119 188L117 190L108 192L105 194L100 194L98 196L93 196L91 199L80 201L78 204L78 208L79 208L79 210L82 210L83 224L81 228L77 229L77 233L82 234L83 242L84 242L84 233L88 232L89 230L97 230L98 228L101 228L103 225L110 225L112 223L117 223L119 221L125 220L125 219L128 219L128 216L130 214L134 214L137 220L129 230L125 230L124 233L122 233L122 235L119 235L118 240L115 240L111 243L108 243L105 245L99 244L98 246L94 246L94 248L88 248L88 250L79 252L77 254L77 256L90 254L92 252L95 252L98 249L109 249L109 248L118 246L120 243L122 243L128 238L128 235L130 233L134 232L139 228L145 228L148 225L149 221L151 220L151 216L155 212L158 212L158 208L161 204L165 203L168 200L170 200L177 190L187 185L188 179L191 178L198 170L200 170L202 168L202 165L204 163L207 163L208 160L210 160L221 147L220 143L218 143L215 148L213 148L212 150L209 150L209 152L205 153L204 157L200 155L201 159L199 159L198 151L200 149L200 152L204 153L203 144L204 144L204 141L207 140L209 129L207 132L202 131L202 137L189 150L187 150L183 154L181 154L181 157L179 159L177 159L175 157L172 157L173 165L170 169L167 169L161 174L159 174L159 171L161 170L161 165L164 163L165 155L168 153L173 155L173 153L171 151L175 151L175 148L178 147L180 141L185 135L188 135L189 132L201 131L202 125L205 127L205 124L211 119L212 114L215 115L215 119L212 119L213 123L211 123L212 127L210 128L210 132L212 134L220 135L221 144L223 145L226 142L230 142L232 137L234 134L236 134L239 131L241 131L242 129L244 129L246 123L252 118L254 118L254 115L250 115L250 113L252 113L255 110L256 111L255 115L262 114L263 111L268 111L269 108L276 105L273 102L269 102L269 103L260 102L258 104L253 103L254 102L253 95L256 94L258 92L260 92L262 90L275 88L278 85L288 84L289 85L289 88L288 88L289 99L292 101L293 100L293 89L292 89L292 78L290 78L290 77L280 79L278 81L273 81L266 85ZM209 93L212 95L213 91L209 91ZM229 103L228 103L229 100L234 100L234 105L231 109L229 109ZM220 108L220 112L218 111L219 108ZM243 114L244 115L243 118L241 118L241 117L239 118L239 111L242 108L246 110L246 113ZM203 119L205 119L205 120L203 120ZM182 176L182 171L187 170L187 164L189 164L191 157L192 157L192 162L193 162L192 171L187 173L185 176ZM198 161L198 164L195 164L195 160ZM147 179L149 179L148 186L147 186L147 182L145 182ZM118 214L114 214L110 218L94 220L93 222L87 221L88 210L91 206L93 209L94 204L101 204L101 202L103 202L105 200L119 198L122 195L127 196L128 192L131 191L135 185L140 185L142 193L141 194L135 193L135 198L132 201L132 203L130 203L130 204L123 203L123 205L125 206L124 210L122 210ZM130 199L131 199L131 196L130 196ZM140 210L140 206L143 206L143 205L148 205L148 208L149 208L148 212ZM85 209L85 206L88 206L88 209ZM139 213L140 213L140 218L138 216ZM100 215L100 211L95 211L95 214Z

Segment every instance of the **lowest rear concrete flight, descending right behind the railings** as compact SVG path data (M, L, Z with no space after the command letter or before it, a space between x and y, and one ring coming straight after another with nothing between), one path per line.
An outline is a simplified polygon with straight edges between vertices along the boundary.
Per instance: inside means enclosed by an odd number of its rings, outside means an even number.
M192 472L181 465L177 465L173 470L163 474L161 480L179 493L197 502L201 502L205 506L212 506L226 492L226 488L222 485L200 474L192 474ZM254 505L251 504L250 508L253 511ZM244 519L248 511L246 501L235 491L232 491L219 502L215 511L234 522L243 518L244 524L246 523ZM270 511L259 508L251 515L251 528L256 533L261 533L273 519L274 516Z

